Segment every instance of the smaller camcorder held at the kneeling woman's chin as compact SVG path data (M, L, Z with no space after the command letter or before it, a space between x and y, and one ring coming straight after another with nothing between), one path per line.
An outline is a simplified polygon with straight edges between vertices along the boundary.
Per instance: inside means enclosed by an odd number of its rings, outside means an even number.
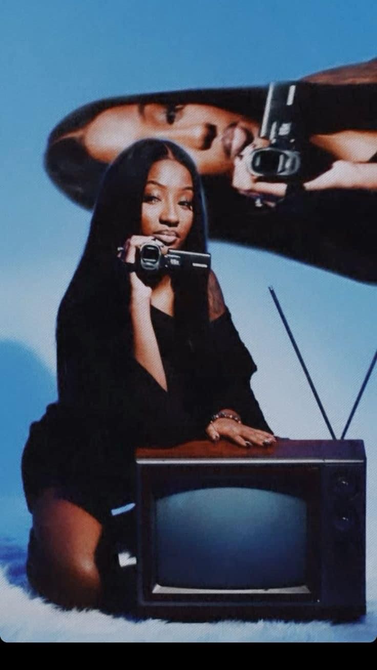
M141 270L157 272L165 270L175 272L184 271L206 271L211 269L211 255L209 253L196 253L194 251L175 251L169 249L163 254L161 247L153 242L146 242L140 247L137 255L137 265Z

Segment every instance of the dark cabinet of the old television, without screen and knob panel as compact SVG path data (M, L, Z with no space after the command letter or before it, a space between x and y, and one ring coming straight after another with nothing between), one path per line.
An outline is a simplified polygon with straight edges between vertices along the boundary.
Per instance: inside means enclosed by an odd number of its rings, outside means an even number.
M153 450L149 450L148 457L137 458L138 472L138 598L142 611L155 616L169 616L169 618L218 618L222 616L238 616L241 618L258 618L260 616L279 616L280 618L321 618L321 614L332 618L356 618L365 611L364 602L360 593L363 591L362 575L358 576L356 592L359 594L354 604L349 602L335 602L331 604L331 596L327 598L326 587L323 585L326 570L326 549L323 547L322 535L326 535L326 521L323 517L323 507L327 509L328 494L323 492L325 468L332 464L335 474L345 472L345 468L364 468L364 446L360 448L350 442L343 443L339 452L339 444L323 458L323 442L287 441L287 445L279 444L279 448L262 454L247 454L246 458L196 458L195 454L186 458L168 458L162 450L156 458ZM348 448L344 445L348 444ZM283 448L282 448L283 446ZM313 446L317 452L313 453ZM187 446L186 446L187 447ZM234 450L234 446L232 446ZM190 446L189 446L190 450ZM292 451L293 450L293 451ZM195 450L194 450L195 451ZM184 452L184 450L183 450ZM293 453L294 452L294 453ZM343 453L342 453L343 452ZM234 452L233 452L234 453ZM144 454L145 456L145 454ZM165 458L163 458L165 456ZM352 471L353 472L353 471ZM333 476L333 475L331 475ZM362 474L358 475L363 480ZM271 489L268 482L275 480L277 486ZM164 493L175 490L190 490L201 488L200 481L205 486L248 486L290 492L303 497L307 502L307 568L305 584L293 588L275 587L271 589L186 589L174 588L159 584L156 578L156 534L155 534L155 500ZM364 480L365 481L365 480ZM173 482L173 484L172 484ZM263 483L265 482L265 484ZM188 486L187 486L188 484ZM192 484L192 485L190 485ZM365 486L365 484L364 484ZM360 491L364 500L365 490ZM326 497L327 496L327 497ZM362 509L363 503L361 505ZM363 516L363 515L362 515ZM363 528L364 518L360 519ZM361 531L365 541L364 532ZM328 535L328 533L327 533ZM364 551L364 554L363 554ZM361 555L364 555L365 548ZM359 561L360 562L360 561ZM365 570L365 567L364 567ZM365 574L364 574L365 580ZM342 598L340 599L342 600ZM356 602L356 600L358 602Z

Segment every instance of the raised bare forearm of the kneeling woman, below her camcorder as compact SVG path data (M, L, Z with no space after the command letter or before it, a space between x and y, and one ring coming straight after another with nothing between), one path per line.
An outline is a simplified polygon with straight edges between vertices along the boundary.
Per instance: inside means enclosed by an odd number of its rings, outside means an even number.
M150 300L131 297L130 313L135 360L149 372L164 391L167 391L165 371L151 321Z

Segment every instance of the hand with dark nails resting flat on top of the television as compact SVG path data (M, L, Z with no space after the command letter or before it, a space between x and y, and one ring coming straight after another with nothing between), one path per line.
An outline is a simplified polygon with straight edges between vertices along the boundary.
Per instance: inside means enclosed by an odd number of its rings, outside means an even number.
M268 447L276 444L276 438L271 433L257 428L251 428L234 419L215 419L206 427L206 433L212 442L226 438L240 447Z

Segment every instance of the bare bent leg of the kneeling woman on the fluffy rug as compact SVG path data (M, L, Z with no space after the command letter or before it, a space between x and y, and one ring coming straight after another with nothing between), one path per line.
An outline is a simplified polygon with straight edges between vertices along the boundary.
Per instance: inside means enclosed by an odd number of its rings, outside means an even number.
M33 509L33 542L28 574L32 586L56 604L96 608L103 595L102 575L112 564L104 527L78 505L48 488Z

